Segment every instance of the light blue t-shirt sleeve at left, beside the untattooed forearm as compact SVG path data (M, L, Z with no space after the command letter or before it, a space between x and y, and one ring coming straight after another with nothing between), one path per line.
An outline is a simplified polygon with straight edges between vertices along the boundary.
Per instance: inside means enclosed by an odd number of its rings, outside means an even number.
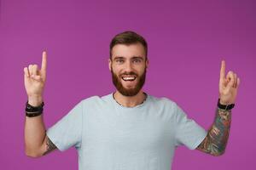
M83 124L83 105L80 102L75 105L71 111L63 116L60 121L56 122L46 131L49 139L55 146L61 150L75 146L79 148L82 140Z

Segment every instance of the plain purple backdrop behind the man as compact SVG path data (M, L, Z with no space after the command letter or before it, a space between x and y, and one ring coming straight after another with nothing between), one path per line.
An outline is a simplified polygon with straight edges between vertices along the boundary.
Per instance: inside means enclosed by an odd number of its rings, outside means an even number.
M46 127L81 99L113 92L108 46L121 31L148 41L148 94L165 96L208 128L221 59L241 77L224 156L179 147L177 169L255 169L255 1L0 1L0 168L78 169L76 150L24 152L23 68L48 51ZM85 160L86 161L86 160Z

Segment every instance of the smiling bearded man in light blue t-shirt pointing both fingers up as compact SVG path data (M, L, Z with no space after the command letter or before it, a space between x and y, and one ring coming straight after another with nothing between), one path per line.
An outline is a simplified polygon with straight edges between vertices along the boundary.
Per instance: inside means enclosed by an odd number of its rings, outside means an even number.
M143 92L148 45L134 31L119 33L110 43L108 66L116 91L83 99L47 130L42 117L46 64L44 52L41 69L38 65L24 68L27 156L40 157L74 146L79 170L170 170L178 145L212 156L224 153L240 84L232 71L225 77L224 61L216 116L208 131L171 99Z

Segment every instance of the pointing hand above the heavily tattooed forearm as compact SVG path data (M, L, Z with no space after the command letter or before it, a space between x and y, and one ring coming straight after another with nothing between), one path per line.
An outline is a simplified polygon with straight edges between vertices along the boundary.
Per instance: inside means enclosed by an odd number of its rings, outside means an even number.
M220 77L219 77L219 99L220 104L230 105L235 104L237 89L240 85L240 78L236 73L229 71L225 77L225 61L221 62Z

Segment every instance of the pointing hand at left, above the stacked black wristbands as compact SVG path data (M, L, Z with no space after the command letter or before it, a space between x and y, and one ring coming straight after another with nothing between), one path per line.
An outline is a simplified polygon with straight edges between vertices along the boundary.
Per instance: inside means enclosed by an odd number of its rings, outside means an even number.
M46 52L43 52L42 67L38 70L38 65L28 65L24 68L24 82L28 98L42 98L44 83L46 79Z

